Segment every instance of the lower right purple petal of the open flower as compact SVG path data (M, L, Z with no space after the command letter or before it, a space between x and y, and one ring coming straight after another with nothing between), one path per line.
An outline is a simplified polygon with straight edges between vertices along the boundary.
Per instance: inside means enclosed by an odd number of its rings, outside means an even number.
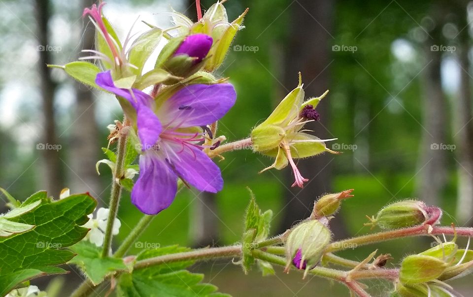
M171 159L171 165L180 178L201 191L216 193L223 188L220 168L202 150L191 146L182 148L169 141L166 145L177 152L178 157Z

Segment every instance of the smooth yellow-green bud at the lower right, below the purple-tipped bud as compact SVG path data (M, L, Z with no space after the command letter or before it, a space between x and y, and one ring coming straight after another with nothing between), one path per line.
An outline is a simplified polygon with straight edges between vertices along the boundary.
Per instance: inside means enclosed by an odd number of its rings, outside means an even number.
M432 256L411 255L404 258L399 279L404 285L426 283L437 279L448 265Z

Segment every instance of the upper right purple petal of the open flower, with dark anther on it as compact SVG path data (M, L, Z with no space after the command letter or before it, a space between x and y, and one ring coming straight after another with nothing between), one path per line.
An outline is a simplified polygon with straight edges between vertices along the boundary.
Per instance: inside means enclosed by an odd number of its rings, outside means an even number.
M236 92L231 84L190 85L166 100L158 117L167 125L204 126L222 118L235 104Z

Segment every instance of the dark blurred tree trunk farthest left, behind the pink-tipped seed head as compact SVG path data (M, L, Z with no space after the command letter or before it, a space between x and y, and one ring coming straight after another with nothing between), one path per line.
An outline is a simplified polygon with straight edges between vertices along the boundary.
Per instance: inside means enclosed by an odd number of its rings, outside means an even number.
M45 187L50 195L57 196L64 185L64 178L61 172L61 161L59 150L48 149L49 146L58 145L56 135L54 93L56 84L51 78L51 71L46 66L52 64L51 53L48 51L49 36L48 23L50 18L50 1L35 0L37 37L40 50L39 53L39 82L41 84L41 97L43 101L43 124L44 124L44 144L42 170L44 170ZM38 145L40 148L40 145ZM50 147L49 147L50 148Z

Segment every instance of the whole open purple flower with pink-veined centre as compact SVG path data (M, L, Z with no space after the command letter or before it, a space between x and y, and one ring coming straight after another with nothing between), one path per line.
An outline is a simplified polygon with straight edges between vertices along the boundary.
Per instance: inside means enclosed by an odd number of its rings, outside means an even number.
M139 178L132 191L137 208L146 214L168 208L178 178L201 191L222 189L220 169L202 151L203 133L195 127L213 123L230 110L236 100L231 84L186 86L157 107L138 89L116 88L109 71L99 73L96 83L128 100L136 110L142 148Z

